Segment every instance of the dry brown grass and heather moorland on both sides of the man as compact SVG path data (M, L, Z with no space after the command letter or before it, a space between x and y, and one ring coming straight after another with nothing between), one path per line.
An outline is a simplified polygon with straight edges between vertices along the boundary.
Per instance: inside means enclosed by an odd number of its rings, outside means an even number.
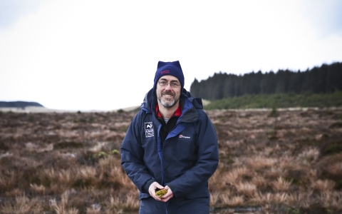
M213 213L341 213L341 110L207 113L219 138ZM137 213L118 154L134 116L2 113L0 213Z

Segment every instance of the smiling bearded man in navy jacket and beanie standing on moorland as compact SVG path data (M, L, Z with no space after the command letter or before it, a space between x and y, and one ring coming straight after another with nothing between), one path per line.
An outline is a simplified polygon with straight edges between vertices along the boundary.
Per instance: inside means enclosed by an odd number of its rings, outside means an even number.
M180 62L160 61L121 146L121 165L140 190L140 214L209 213L208 179L219 155L202 107L184 88Z

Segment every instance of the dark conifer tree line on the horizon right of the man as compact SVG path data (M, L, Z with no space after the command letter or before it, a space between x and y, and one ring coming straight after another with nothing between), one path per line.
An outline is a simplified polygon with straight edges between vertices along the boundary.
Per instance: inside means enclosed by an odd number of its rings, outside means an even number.
M209 101L244 94L270 93L331 93L342 91L342 63L323 64L306 71L279 70L274 73L246 73L243 76L214 73L204 81L195 81L190 92Z

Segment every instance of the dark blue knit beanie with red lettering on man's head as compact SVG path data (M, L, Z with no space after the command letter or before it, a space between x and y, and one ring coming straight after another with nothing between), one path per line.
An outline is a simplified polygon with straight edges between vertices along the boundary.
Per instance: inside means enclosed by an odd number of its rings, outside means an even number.
M157 88L157 81L160 77L165 75L171 75L178 78L180 81L181 91L184 87L184 75L182 68L180 67L180 61L164 62L159 61L157 71L155 72L155 84L153 85L153 91Z

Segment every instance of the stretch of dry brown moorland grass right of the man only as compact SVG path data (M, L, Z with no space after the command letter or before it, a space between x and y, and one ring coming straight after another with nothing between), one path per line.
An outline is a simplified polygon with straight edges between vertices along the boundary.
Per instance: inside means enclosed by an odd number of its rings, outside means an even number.
M219 118L212 121L222 163L209 180L212 207L232 207L230 200L240 196L242 206L261 206L261 213L277 213L279 206L294 213L341 211L342 149L336 142L342 143L342 130L328 128L341 111L284 111L278 118L260 112L208 113Z

